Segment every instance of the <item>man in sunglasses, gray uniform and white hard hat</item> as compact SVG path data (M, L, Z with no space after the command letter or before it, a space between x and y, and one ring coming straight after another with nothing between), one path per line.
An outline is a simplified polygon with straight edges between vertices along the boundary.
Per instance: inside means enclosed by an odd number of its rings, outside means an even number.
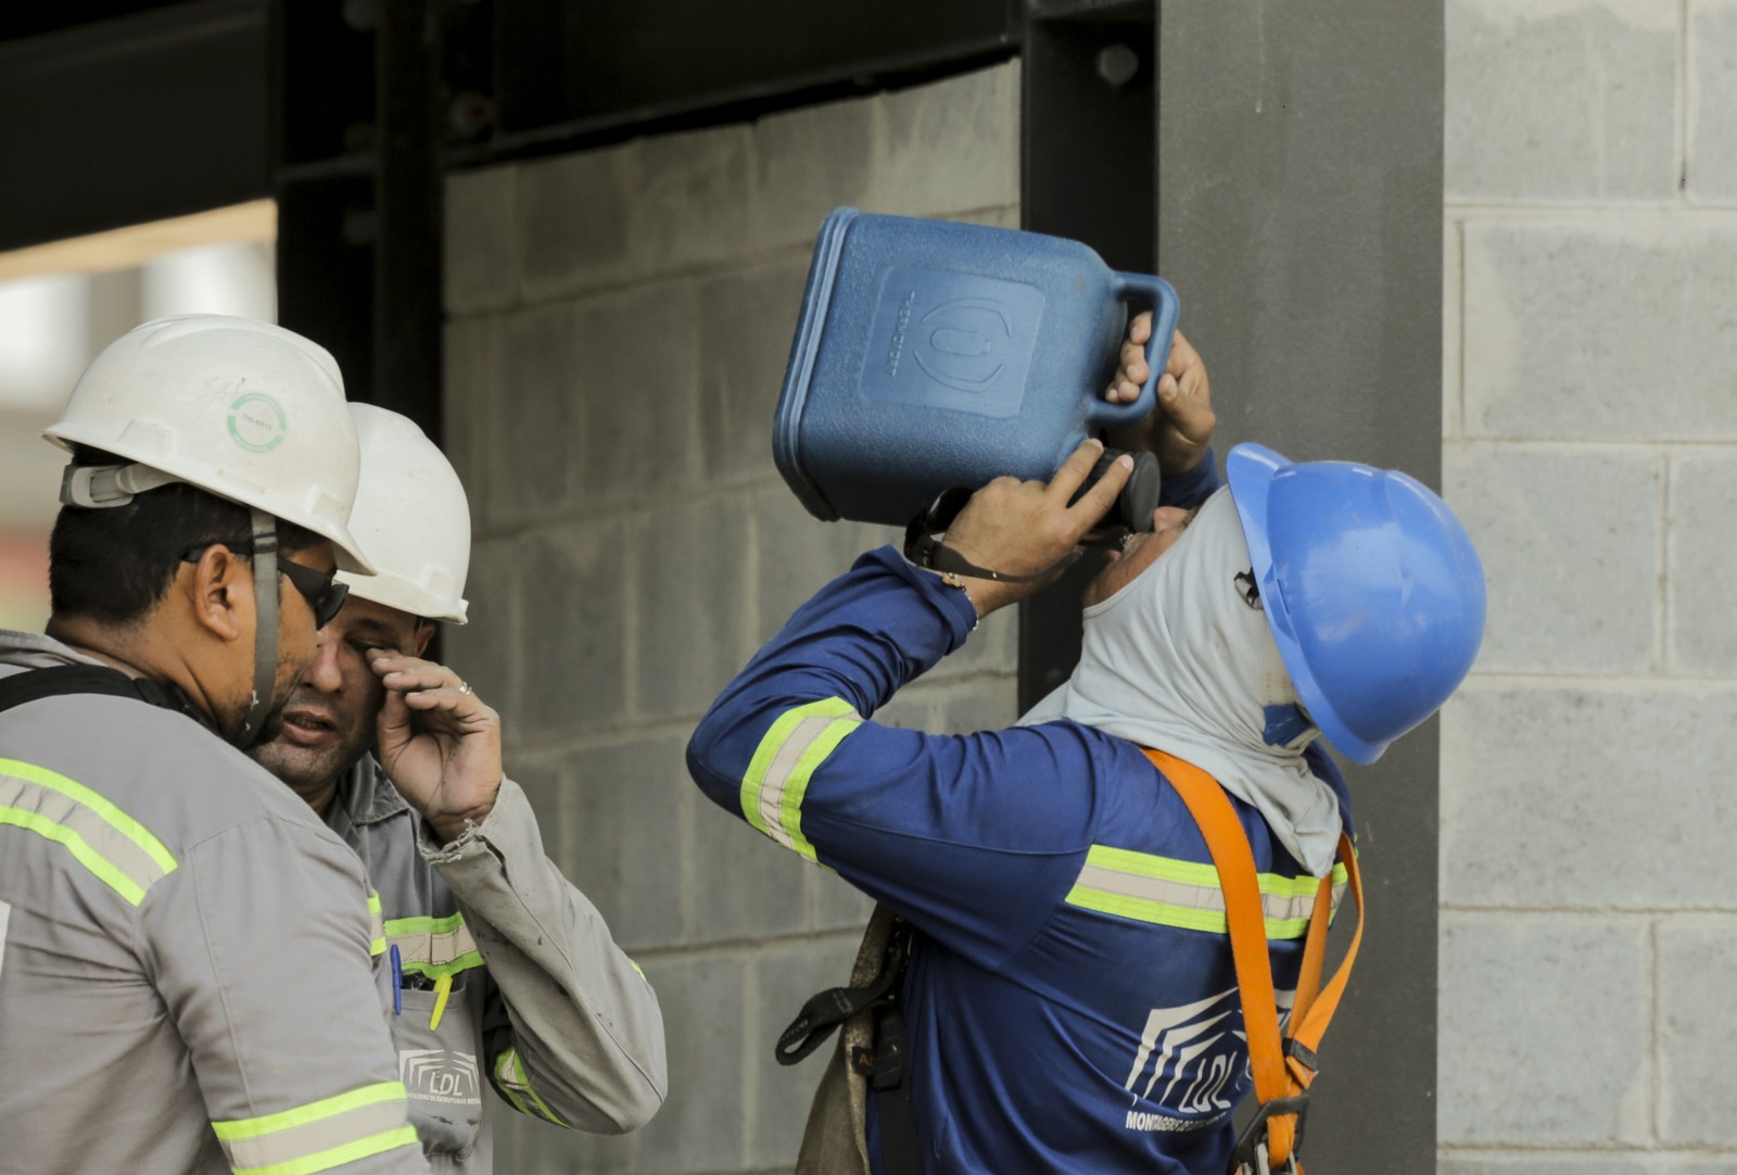
M267 323L109 344L47 634L0 631L0 1172L427 1172L361 866L238 747L365 574L332 356Z

